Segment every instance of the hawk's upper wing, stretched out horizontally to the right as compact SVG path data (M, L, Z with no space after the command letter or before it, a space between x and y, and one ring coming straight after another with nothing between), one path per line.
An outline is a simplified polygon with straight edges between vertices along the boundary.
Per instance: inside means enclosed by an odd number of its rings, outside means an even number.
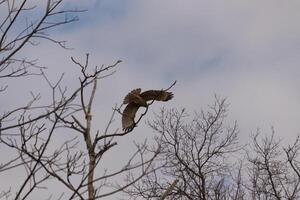
M141 93L140 96L146 101L169 101L173 98L173 93L164 90L147 90Z

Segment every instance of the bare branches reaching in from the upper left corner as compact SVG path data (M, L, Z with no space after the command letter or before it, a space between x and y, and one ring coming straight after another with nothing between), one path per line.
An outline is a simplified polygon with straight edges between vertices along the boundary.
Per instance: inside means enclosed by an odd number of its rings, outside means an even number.
M63 0L48 0L39 4L41 5L30 0L0 1L0 79L39 73L41 67L35 59L22 58L18 54L28 44L38 45L39 39L49 40L66 48L65 41L56 40L47 32L77 21L74 13L83 11L59 10ZM7 85L2 86L1 90L6 87Z

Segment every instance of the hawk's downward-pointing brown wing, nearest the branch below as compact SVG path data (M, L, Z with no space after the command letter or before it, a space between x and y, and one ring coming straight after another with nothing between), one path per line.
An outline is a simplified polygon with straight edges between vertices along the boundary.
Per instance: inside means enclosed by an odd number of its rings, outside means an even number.
M129 103L122 114L122 128L124 131L128 131L134 128L134 117L139 109L139 105L135 103Z

